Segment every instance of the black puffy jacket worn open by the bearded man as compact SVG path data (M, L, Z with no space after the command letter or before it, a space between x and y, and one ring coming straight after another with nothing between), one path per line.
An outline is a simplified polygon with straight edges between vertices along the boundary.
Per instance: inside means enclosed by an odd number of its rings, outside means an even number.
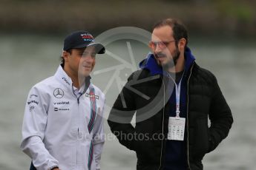
M186 118L187 167L203 169L206 153L214 150L232 126L232 112L217 79L195 62L188 71ZM169 78L134 72L111 109L108 124L119 143L137 153L138 170L163 169L168 134ZM137 123L131 125L136 112ZM208 118L211 124L208 123Z

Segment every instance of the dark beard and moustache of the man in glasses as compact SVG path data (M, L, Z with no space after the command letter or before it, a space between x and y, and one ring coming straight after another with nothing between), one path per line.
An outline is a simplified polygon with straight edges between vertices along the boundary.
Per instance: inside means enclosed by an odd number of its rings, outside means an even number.
M166 64L162 64L161 61L157 60L157 64L160 65L161 67L163 67L163 69L168 69L171 67L175 67L177 64L177 60L180 58L180 51L176 48L174 50L174 54L171 56L167 56L165 55L163 52L157 52L154 54L155 58L171 58Z

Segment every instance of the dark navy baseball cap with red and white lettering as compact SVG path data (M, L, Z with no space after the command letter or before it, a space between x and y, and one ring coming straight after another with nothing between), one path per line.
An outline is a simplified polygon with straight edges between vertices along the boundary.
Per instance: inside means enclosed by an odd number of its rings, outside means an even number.
M93 46L98 54L105 53L105 47L102 44L94 42L93 35L88 31L76 31L68 35L64 40L63 50L67 51L73 48L85 48Z

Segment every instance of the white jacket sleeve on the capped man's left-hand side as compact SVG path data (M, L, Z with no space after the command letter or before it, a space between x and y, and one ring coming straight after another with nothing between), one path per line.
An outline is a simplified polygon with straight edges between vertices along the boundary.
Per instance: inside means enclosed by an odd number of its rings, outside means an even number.
M58 161L45 148L43 139L47 124L47 97L33 87L27 97L22 125L21 149L32 160L38 170L58 166Z

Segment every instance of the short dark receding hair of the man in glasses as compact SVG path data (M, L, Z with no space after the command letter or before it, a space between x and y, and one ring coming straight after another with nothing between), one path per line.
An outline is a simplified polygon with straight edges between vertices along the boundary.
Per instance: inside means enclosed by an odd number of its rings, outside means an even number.
M154 24L153 30L155 28L159 27L164 27L164 26L170 26L174 32L174 39L176 40L176 45L177 41L180 40L180 38L185 38L186 39L186 46L188 44L188 31L185 27L185 25L174 18L165 18L163 20L157 21L156 24Z

